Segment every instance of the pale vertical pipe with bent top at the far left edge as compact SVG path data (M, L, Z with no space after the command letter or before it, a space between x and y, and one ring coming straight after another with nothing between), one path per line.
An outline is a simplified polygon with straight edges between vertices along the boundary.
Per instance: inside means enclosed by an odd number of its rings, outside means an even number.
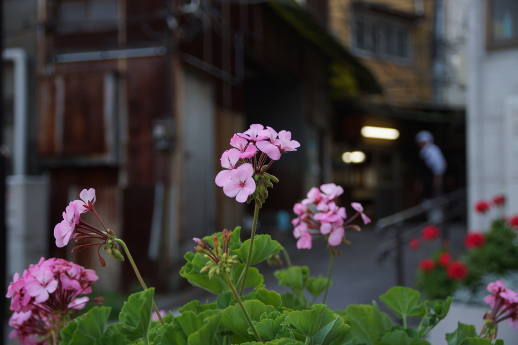
M12 61L15 67L13 174L25 175L27 172L27 54L22 48L8 48L2 52L2 59Z

